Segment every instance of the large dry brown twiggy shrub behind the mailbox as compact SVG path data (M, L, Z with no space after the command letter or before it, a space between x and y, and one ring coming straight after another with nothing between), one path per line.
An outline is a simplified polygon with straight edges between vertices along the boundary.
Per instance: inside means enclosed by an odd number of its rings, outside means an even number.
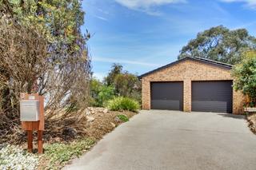
M85 41L78 39L79 49L70 52L33 27L0 19L0 142L23 139L18 101L24 92L46 97L46 136L59 136L66 127L81 131L90 81Z

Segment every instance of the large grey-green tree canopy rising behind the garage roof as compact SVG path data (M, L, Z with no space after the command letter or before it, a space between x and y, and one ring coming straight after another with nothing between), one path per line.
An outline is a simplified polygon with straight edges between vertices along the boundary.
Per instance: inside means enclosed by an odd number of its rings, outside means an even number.
M197 38L183 46L178 59L204 57L233 65L241 61L243 52L251 49L256 49L256 38L246 29L229 30L216 26L199 33Z

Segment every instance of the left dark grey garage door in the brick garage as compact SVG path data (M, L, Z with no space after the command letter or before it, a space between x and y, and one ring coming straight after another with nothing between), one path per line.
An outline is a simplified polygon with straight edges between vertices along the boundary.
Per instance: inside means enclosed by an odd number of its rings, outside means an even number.
M183 110L183 82L151 82L151 109Z

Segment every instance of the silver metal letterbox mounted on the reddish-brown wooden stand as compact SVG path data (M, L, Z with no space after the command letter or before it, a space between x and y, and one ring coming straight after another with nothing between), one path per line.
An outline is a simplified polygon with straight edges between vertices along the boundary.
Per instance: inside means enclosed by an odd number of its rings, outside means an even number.
M20 101L21 121L39 121L39 101Z

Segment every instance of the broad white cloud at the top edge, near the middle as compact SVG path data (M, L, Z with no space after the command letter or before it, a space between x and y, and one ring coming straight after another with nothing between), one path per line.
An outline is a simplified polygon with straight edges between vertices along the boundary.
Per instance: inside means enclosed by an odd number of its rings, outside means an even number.
M115 0L130 10L140 10L150 15L161 15L161 12L152 10L155 6L163 6L171 3L184 3L186 0Z

